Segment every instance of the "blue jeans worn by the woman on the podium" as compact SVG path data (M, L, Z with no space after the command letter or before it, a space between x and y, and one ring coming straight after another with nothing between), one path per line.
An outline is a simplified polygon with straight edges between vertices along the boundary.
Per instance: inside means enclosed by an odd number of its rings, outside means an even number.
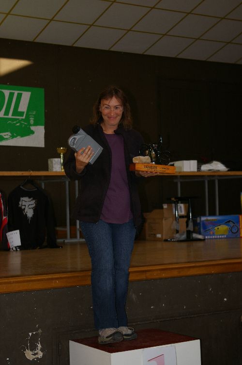
M91 257L95 327L127 326L125 303L136 234L133 219L123 224L81 221L80 226Z

